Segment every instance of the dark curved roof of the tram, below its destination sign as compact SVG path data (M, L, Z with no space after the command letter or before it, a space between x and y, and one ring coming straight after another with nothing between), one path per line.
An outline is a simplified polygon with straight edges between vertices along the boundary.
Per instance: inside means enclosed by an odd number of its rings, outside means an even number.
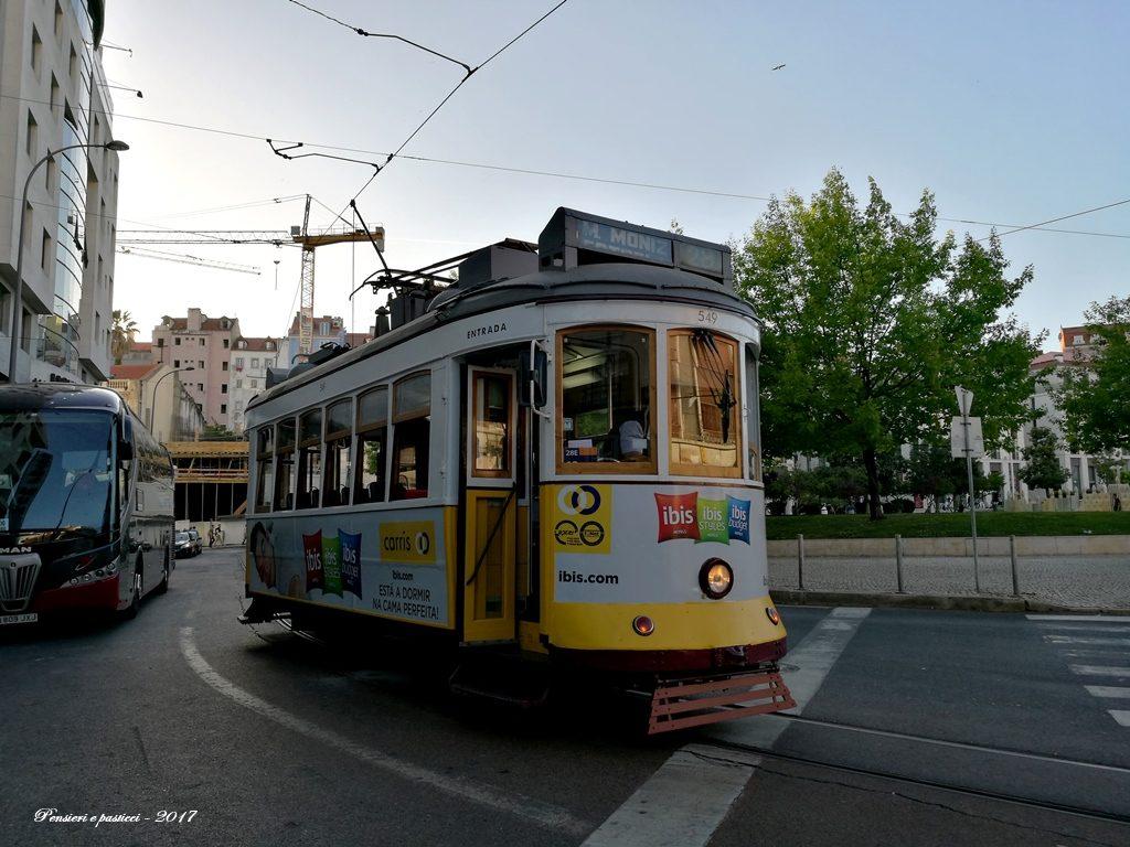
M315 382L328 373L375 356L423 335L437 326L486 312L525 304L584 300L649 300L680 303L734 312L757 320L753 307L716 281L673 268L634 262L586 264L568 270L545 270L462 289L445 288L415 321L398 326L360 347L320 363L254 396L247 408Z

